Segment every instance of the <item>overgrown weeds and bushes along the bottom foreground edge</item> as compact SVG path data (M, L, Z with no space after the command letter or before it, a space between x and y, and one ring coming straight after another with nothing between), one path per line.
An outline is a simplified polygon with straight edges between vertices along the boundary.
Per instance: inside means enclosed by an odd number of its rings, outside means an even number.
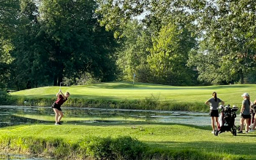
M129 136L87 137L77 142L67 142L61 138L48 139L1 135L0 147L12 153L32 153L50 156L54 159L244 159L222 153L208 153L191 149L172 151L168 148L149 146Z

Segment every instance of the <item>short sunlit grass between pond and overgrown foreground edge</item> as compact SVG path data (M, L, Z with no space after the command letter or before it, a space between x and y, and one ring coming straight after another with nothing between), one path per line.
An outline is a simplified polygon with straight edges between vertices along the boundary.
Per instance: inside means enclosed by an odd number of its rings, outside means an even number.
M85 137L119 137L129 135L147 143L156 150L192 150L214 155L240 156L256 159L256 132L233 136L230 132L214 136L209 127L180 124L34 124L0 129L4 135L32 138L63 138L76 143Z

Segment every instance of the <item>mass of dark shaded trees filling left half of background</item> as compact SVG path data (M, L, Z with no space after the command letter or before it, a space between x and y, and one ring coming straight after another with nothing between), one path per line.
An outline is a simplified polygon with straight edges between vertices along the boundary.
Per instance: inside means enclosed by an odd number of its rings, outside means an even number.
M5 17L0 13L6 19L1 25L7 25L0 36L0 64L9 67L3 74L8 77L1 79L9 78L10 87L59 85L64 78L74 84L86 74L99 81L115 79L116 42L113 33L99 26L95 1L22 0L1 4L6 7L0 12L8 14ZM7 37L6 32L10 32Z

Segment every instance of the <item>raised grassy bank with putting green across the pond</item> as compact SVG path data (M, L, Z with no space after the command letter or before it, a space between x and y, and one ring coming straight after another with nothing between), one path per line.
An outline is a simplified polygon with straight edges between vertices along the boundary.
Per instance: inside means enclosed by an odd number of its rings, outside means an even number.
M125 82L99 83L83 86L61 87L72 95L64 106L91 108L127 108L179 111L208 111L204 105L217 92L226 104L240 107L244 92L256 97L255 84L236 84L208 87L173 87L157 84ZM56 100L59 87L41 87L12 92L10 103L15 105L50 106Z

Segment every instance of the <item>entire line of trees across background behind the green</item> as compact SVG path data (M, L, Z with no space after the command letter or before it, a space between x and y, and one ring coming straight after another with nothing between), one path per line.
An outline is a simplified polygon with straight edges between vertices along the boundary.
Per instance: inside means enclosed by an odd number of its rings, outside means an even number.
M0 0L0 87L256 81L248 0Z

